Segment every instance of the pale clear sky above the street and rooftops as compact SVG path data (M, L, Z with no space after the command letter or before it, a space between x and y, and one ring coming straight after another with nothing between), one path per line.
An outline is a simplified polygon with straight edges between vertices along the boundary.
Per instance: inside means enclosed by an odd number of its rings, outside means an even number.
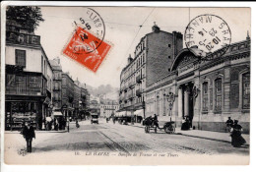
M112 47L96 73L62 55L74 31L74 21L87 18L87 7L41 7L45 20L34 31L40 35L48 59L59 57L64 72L90 86L120 86L121 70L127 65L129 54L134 54L141 37L152 32L154 22L161 30L184 33L189 21L203 14L224 19L231 30L231 42L250 34L249 8L153 8L153 7L92 7L105 25L104 41ZM142 27L140 27L142 26ZM185 45L183 45L185 47Z

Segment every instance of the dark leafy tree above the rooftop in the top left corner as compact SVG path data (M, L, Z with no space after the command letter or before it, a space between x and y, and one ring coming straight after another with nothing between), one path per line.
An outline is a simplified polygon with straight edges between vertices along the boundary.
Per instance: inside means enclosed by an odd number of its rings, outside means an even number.
M20 24L23 28L36 29L43 22L41 9L34 6L8 6L6 10L7 20Z

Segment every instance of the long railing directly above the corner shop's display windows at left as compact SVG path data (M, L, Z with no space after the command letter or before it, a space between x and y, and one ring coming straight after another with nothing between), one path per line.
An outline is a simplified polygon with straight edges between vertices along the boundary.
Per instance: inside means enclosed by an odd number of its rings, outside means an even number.
M46 95L46 88L41 87L6 87L6 94L15 95Z

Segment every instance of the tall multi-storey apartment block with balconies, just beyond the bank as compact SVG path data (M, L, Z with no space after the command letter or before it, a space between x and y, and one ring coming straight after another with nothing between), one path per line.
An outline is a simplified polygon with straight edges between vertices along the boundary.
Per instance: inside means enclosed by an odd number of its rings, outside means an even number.
M162 31L157 25L152 29L141 38L134 58L128 57L128 64L120 75L120 111L132 116L136 113L144 116L141 111L145 108L146 87L170 73L170 64L182 49L180 32Z

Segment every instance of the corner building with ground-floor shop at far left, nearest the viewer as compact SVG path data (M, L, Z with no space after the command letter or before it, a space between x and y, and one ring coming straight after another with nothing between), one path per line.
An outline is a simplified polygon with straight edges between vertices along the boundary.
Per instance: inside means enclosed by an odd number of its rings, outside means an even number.
M14 21L6 23L5 127L20 128L31 121L41 130L50 115L52 68L40 36Z

